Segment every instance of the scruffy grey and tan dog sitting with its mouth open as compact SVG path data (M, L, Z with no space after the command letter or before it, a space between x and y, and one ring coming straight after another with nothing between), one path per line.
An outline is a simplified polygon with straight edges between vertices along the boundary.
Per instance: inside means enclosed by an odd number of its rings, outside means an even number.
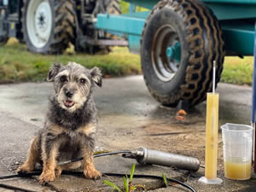
M93 164L96 135L96 106L92 97L95 84L102 86L102 73L87 69L75 62L67 66L54 64L48 81L54 82L55 95L49 99L49 111L44 128L32 140L26 162L17 172L32 172L43 161L40 183L54 181L62 170L84 169L87 178L100 177ZM59 160L84 160L57 166Z

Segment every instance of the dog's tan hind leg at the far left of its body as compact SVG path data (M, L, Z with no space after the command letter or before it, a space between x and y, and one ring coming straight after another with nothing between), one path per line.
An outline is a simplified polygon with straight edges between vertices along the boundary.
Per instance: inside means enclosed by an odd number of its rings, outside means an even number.
M20 166L16 172L25 173L32 172L36 166L36 163L39 161L39 137L35 137L32 140L30 148L28 149L27 159L25 163Z

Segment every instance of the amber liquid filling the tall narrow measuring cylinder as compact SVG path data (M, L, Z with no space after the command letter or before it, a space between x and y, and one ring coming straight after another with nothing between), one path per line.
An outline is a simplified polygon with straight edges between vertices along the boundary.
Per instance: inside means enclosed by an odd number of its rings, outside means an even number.
M218 154L218 93L207 93L207 141L205 177L217 177Z

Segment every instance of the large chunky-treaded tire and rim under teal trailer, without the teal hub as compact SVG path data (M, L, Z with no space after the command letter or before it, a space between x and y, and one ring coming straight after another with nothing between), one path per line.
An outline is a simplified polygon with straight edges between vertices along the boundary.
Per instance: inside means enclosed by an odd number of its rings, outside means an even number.
M170 61L166 48L179 42L179 63ZM216 61L216 84L224 62L224 40L218 20L197 0L162 0L148 15L141 43L143 76L148 90L163 105L189 107L206 99L212 89L212 66Z

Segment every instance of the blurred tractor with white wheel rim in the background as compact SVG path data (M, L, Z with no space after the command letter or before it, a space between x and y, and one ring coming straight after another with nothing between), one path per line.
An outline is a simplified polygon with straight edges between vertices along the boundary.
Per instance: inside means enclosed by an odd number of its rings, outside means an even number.
M70 43L77 51L108 52L125 42L95 29L101 13L120 14L119 0L0 0L0 45L14 37L40 54L61 54Z

